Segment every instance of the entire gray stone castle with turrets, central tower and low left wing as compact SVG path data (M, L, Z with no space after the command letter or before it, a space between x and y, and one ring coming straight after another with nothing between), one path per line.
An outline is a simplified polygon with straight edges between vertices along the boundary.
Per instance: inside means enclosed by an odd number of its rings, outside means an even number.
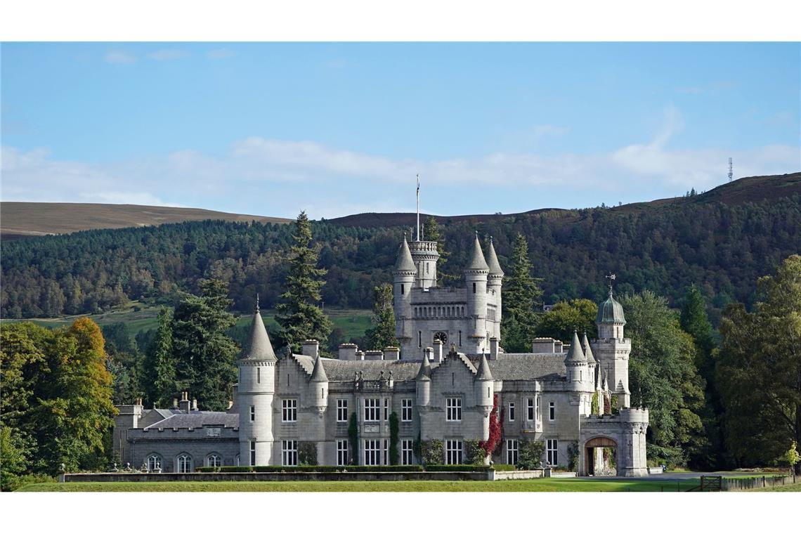
M429 462L465 464L477 460L475 444L490 439L494 416L500 440L478 461L517 464L537 440L546 466L646 475L648 410L630 407L631 342L611 289L596 339L533 339L531 352L508 353L500 330L504 273L492 242L485 255L476 236L462 287L437 286L438 258L436 242L400 243L393 270L400 347L360 351L344 343L329 359L308 340L301 354L278 357L257 306L231 408L200 411L187 393L170 409L120 406L115 448L123 464L167 472L387 465L393 448L398 464L420 464L421 450L439 456ZM614 413L594 415L594 399L600 412L607 399Z

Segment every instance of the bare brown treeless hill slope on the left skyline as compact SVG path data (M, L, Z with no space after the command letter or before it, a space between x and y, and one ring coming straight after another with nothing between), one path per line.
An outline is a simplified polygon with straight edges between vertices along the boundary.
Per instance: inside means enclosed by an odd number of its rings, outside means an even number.
M74 231L100 228L143 227L206 219L261 223L288 223L291 220L201 210L194 207L4 202L0 203L0 236L3 239L13 239L35 235L70 234Z

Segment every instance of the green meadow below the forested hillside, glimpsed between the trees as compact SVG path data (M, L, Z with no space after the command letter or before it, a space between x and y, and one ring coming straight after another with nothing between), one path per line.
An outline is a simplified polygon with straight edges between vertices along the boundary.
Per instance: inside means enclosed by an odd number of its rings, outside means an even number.
M139 307L138 311L135 309ZM370 327L370 317L372 311L370 310L333 310L327 309L326 315L331 318L335 328L341 328L344 332L345 339L352 337L361 337ZM96 315L70 315L67 317L56 317L54 319L4 319L9 322L19 323L23 321L30 321L43 327L57 328L69 326L78 317L89 317L101 327L107 324L114 323L127 323L131 335L136 335L139 331L150 330L156 327L156 319L159 314L159 307L140 307L139 303L131 303L125 310L111 311L109 313L102 313ZM272 310L263 310L261 312L264 318L264 323L267 327L277 327L276 312ZM248 326L250 324L252 315L242 315L239 317L236 325L239 327Z

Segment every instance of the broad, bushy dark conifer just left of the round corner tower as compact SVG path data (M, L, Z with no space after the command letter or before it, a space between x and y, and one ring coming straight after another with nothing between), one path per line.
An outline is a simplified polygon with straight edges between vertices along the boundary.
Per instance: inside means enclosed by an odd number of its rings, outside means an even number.
M201 294L183 295L175 307L173 350L176 385L198 399L202 409L223 411L236 381L235 358L239 347L227 331L236 323L228 311L231 299L225 283L201 279Z

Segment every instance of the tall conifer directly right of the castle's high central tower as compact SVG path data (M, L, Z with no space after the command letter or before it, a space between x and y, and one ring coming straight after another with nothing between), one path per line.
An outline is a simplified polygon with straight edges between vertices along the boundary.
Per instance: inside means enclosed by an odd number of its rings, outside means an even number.
M541 279L531 275L533 265L529 259L529 245L522 234L517 234L512 248L512 264L504 279L503 319L501 339L506 351L528 350L536 336L535 307L541 304Z

